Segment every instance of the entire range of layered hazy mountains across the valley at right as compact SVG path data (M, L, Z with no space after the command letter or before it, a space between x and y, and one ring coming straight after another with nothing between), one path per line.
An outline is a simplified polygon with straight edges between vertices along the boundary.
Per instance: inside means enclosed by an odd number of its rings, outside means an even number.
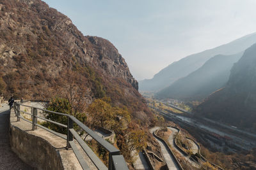
M256 132L256 33L173 62L141 91L159 99L200 101L196 116Z

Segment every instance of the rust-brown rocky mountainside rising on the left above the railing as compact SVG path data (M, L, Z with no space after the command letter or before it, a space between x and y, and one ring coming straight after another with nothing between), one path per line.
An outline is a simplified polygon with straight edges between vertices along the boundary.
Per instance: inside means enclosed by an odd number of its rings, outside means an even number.
M0 1L0 30L0 90L5 97L49 99L72 83L70 87L83 89L87 103L110 97L135 117L150 117L138 82L115 46L83 36L70 18L44 2Z

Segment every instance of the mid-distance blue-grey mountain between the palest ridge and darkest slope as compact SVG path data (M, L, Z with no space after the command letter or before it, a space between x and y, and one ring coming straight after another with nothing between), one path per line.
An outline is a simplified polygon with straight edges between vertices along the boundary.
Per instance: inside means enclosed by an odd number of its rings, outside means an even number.
M157 92L156 96L201 101L227 83L232 66L242 55L243 52L235 55L216 55L193 73Z

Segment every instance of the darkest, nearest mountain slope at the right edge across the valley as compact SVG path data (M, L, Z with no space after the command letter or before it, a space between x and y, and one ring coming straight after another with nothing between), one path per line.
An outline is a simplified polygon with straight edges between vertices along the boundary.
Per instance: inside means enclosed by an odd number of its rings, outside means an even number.
M232 67L227 85L196 109L199 115L256 132L256 44Z

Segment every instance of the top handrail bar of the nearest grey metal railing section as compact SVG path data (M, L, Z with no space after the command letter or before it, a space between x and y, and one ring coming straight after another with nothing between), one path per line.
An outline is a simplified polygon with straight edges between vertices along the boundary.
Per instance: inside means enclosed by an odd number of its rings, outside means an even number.
M101 138L98 134L96 134L95 132L93 132L89 127L87 127L86 125L84 125L82 122L80 122L79 120L77 120L77 118L73 117L73 116L69 116L77 125L79 125L79 127L81 127L81 129L83 129L84 131L86 131L86 133L88 133L93 139L95 139L95 141L97 141L101 146L103 146L106 150L108 150L109 153L115 153L115 155L120 154L120 150L118 150L117 148L115 148L115 146L111 145L108 141L106 141L105 139Z

